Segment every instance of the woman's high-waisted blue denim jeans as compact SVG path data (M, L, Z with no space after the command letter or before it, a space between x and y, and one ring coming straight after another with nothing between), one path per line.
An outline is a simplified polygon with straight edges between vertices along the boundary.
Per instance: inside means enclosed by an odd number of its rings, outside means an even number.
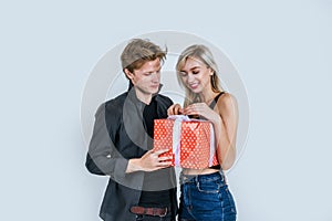
M236 204L222 171L180 176L179 221L235 221Z

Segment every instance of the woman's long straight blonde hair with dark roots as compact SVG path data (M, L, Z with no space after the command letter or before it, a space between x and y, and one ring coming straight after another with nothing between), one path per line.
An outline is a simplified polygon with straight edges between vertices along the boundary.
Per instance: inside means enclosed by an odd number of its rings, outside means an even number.
M209 69L212 70L214 74L210 76L212 92L220 93L224 91L220 85L220 80L218 77L219 70L215 62L211 51L207 46L201 45L201 44L194 44L191 46L188 46L179 55L177 63L176 63L177 80L178 80L180 86L183 86L186 92L184 107L186 107L193 103L203 102L203 101L200 101L200 97L198 96L198 94L193 93L188 87L185 86L183 78L179 75L179 72L184 67L187 59L189 59L189 57L194 59L194 60L199 60L200 62L205 63Z

